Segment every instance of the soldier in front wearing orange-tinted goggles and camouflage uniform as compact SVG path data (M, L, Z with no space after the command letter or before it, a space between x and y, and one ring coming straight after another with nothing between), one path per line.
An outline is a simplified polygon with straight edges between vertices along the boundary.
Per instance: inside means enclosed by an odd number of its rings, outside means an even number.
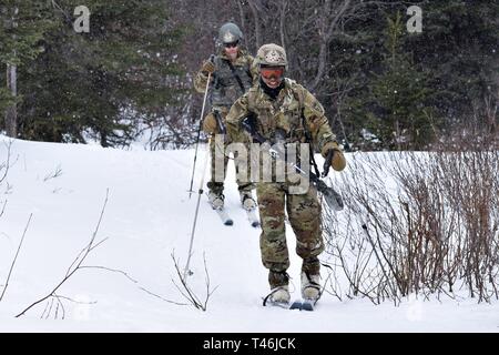
M330 166L336 171L345 169L345 158L320 103L305 88L284 78L287 68L284 49L265 44L258 50L255 63L259 70L258 83L234 103L226 118L232 139L243 139L245 132L241 123L253 115L258 132L271 142L276 142L277 132L284 132L286 143L308 142L324 158L334 150ZM289 302L285 209L297 239L296 252L303 258L302 295L317 300L320 291L318 255L324 251L324 243L317 191L310 184L306 193L291 194L289 186L288 181L257 182L256 185L262 262L269 271L271 300L279 303Z

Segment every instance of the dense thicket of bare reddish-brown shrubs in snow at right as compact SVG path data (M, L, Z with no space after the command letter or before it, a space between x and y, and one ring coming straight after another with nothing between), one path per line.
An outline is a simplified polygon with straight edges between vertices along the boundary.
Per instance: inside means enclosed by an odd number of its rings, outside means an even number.
M347 282L347 296L499 297L499 151L486 144L493 141L354 155L345 212L324 219L327 253L340 265L333 280Z

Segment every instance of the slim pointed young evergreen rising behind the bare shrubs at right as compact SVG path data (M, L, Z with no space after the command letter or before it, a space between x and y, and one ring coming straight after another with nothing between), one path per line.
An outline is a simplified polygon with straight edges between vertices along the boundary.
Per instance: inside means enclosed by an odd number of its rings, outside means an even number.
M431 91L427 73L401 49L403 37L409 36L399 12L387 19L383 72L371 81L368 122L384 148L422 149L432 139Z

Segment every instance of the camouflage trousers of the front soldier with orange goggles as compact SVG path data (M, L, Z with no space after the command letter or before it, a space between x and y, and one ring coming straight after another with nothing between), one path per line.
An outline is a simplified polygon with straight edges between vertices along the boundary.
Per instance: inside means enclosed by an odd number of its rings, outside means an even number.
M319 274L318 255L324 251L320 227L320 204L317 191L310 185L305 194L289 194L286 183L258 183L262 262L269 270L271 288L288 283L286 270L289 255L286 244L285 209L296 235L296 253L303 258L302 271Z

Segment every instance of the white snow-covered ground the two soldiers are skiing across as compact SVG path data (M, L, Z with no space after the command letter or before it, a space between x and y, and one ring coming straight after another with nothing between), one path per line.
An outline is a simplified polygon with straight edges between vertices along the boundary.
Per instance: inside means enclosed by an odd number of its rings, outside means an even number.
M8 140L0 136L0 164ZM0 302L0 332L498 332L499 305L476 300L442 302L405 300L379 306L367 300L339 302L325 294L317 312L264 308L267 273L258 250L259 231L238 209L231 165L226 205L235 224L224 226L202 197L190 283L205 293L203 253L212 287L201 312L165 300L184 302L172 283L171 257L183 266L197 195L189 199L193 150L122 151L94 145L16 140L11 164L0 185L0 292L9 274L30 214L32 220ZM198 171L201 162L198 160ZM1 179L1 173L0 173ZM198 181L200 176L196 176ZM198 182L195 183L197 189ZM50 294L89 243L109 189L96 241L106 239L58 291L64 305L31 303ZM298 296L301 261L287 229ZM126 277L123 273L126 273ZM292 287L293 288L293 287ZM146 290L146 291L144 291ZM69 301L69 297L73 301ZM49 307L48 307L49 306ZM50 311L50 316L41 318Z

